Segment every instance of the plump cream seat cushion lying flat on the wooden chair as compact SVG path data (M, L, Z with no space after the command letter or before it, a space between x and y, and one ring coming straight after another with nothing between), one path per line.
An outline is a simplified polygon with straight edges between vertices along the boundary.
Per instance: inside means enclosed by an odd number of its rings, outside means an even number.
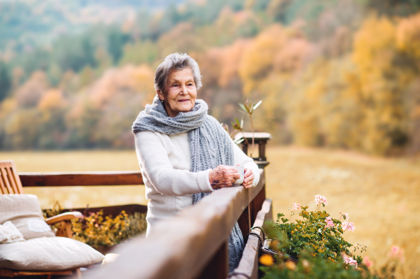
M89 245L65 237L41 237L0 244L0 267L21 271L78 269L104 259Z

